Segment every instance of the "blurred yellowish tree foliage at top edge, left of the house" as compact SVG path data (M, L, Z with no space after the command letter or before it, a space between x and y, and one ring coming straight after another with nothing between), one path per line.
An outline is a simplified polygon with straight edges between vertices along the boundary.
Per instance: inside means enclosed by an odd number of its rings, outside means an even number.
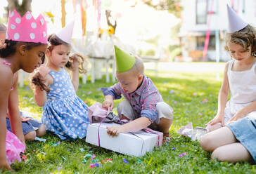
M151 6L159 11L169 11L174 14L177 18L181 18L180 0L159 0L155 3L154 0L142 0L148 6Z

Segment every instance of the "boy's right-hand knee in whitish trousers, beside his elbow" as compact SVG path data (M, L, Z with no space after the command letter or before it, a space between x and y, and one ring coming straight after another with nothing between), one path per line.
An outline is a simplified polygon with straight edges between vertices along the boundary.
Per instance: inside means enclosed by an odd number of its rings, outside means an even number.
M158 112L159 118L172 120L173 109L166 102L158 102L156 104L156 112Z

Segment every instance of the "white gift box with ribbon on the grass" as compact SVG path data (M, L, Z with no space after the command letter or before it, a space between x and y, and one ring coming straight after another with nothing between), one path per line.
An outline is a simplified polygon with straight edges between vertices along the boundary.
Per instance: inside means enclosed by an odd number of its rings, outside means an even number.
M117 123L91 123L87 128L86 142L105 149L110 149L121 154L143 156L146 152L153 151L155 146L162 145L162 133L148 133L136 131L132 133L120 133L110 136L107 127ZM154 131L156 132L156 131Z

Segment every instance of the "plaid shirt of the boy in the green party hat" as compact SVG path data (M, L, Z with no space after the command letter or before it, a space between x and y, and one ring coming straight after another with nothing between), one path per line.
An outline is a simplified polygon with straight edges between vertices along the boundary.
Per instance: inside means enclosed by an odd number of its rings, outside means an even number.
M156 112L156 104L162 102L162 96L160 95L158 88L155 87L153 81L145 75L143 75L143 81L141 86L133 93L124 93L120 83L116 83L110 88L101 88L103 95L113 95L115 100L120 99L121 95L129 101L134 112L141 116L146 116L151 120L151 123L158 119L158 112Z

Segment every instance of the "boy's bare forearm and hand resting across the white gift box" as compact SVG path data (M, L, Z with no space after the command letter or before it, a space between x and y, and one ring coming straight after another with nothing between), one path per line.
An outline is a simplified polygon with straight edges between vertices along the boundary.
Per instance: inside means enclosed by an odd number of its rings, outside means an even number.
M151 121L146 116L142 116L139 119L135 119L133 121L130 121L129 123L125 123L122 126L108 127L108 134L114 136L118 135L119 133L138 131L143 128L147 128L150 125Z

